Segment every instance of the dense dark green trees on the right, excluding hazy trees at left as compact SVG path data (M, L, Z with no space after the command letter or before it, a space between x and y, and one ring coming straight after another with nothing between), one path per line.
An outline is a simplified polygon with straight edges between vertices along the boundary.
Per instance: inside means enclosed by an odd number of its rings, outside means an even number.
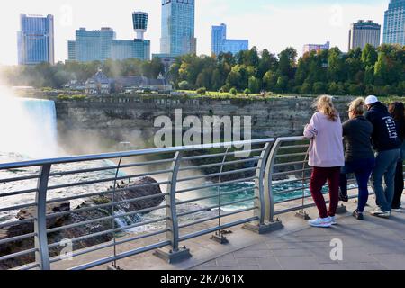
M405 46L385 45L353 49L338 48L305 53L284 49L277 56L267 49L241 51L233 56L185 55L170 67L176 88L229 92L245 89L277 94L403 95Z

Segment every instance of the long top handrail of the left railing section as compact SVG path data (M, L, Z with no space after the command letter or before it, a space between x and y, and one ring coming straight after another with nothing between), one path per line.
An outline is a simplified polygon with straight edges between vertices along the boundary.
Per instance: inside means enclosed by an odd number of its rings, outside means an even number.
M154 148L154 149L143 149L137 151L127 151L127 152L116 152L116 153L105 153L99 155L85 155L76 157L59 157L59 158L49 158L42 160L24 161L16 163L5 163L0 164L0 170L13 169L13 168L23 168L29 166L44 166L44 165L56 165L56 164L67 164L74 162L84 162L84 161L95 161L95 160L106 160L121 157L134 157L134 156L145 156L145 155L155 155L155 154L168 154L175 152L184 151L194 151L209 148L226 148L232 146L243 146L243 145L256 145L265 144L268 142L274 142L275 139L257 139L257 140L245 140L245 141L235 141L229 143L213 143L213 144L202 144L196 146L184 146L184 147L174 147L174 148Z

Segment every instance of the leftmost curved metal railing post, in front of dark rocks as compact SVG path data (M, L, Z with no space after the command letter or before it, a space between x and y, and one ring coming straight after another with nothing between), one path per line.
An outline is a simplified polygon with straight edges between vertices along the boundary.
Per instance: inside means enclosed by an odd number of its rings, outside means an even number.
M35 233L35 261L40 270L50 270L49 249L47 235L47 190L49 182L50 164L40 167L40 178L37 185L35 202L34 233Z

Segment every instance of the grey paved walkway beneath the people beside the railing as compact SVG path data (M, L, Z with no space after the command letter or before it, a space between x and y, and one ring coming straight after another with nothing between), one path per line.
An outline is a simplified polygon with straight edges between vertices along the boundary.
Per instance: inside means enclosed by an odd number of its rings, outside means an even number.
M355 205L349 204L347 208L353 211ZM405 269L405 211L393 212L390 220L365 213L364 221L347 213L338 216L338 225L329 229L306 228L306 223L301 221L301 230L277 238L267 236L258 244L212 258L193 269ZM341 261L330 257L333 249L330 244L334 239L343 244Z

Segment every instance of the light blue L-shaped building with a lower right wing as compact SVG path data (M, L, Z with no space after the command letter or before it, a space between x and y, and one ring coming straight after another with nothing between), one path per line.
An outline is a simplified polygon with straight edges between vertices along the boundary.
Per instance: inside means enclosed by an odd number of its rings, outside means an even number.
M249 49L248 40L227 39L227 25L224 23L220 24L220 26L212 26L211 34L211 51L215 55L219 55L220 52L230 52L235 55L240 51Z

